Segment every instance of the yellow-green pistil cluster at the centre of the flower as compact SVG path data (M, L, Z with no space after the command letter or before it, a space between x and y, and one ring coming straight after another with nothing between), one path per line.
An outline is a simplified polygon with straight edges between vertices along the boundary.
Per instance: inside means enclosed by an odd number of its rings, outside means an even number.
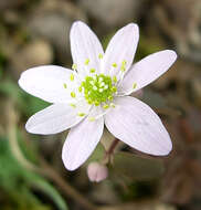
M84 92L88 104L96 106L100 103L113 101L113 95L117 92L117 87L113 85L112 77L104 74L86 76L78 90Z

